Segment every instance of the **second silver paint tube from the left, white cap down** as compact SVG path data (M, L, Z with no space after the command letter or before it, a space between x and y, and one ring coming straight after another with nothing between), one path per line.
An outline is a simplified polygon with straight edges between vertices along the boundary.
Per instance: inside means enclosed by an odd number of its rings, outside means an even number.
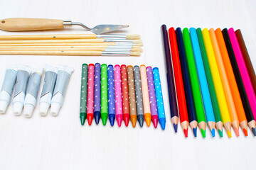
M17 72L17 83L14 91L14 113L21 115L26 95L26 86L32 68L26 65L19 65Z

